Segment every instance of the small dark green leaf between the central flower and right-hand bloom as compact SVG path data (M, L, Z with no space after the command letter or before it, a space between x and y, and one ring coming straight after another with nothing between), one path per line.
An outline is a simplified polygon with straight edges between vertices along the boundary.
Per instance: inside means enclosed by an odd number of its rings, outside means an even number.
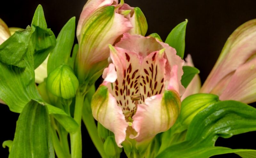
M196 74L199 74L199 70L195 67L191 66L183 66L182 67L184 74L181 77L181 84L187 88L188 84L191 82L191 80L194 78Z

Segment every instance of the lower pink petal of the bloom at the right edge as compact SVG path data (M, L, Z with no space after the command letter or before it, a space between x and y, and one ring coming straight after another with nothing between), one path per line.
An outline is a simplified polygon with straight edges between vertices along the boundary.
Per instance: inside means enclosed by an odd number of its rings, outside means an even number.
M246 104L256 101L256 58L237 68L220 100L237 100Z

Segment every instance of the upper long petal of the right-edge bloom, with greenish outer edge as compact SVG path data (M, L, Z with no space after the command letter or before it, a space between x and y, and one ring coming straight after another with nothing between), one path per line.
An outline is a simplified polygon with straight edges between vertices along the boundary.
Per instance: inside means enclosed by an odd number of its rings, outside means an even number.
M228 74L243 65L256 50L256 19L239 26L228 38L201 92L209 93Z

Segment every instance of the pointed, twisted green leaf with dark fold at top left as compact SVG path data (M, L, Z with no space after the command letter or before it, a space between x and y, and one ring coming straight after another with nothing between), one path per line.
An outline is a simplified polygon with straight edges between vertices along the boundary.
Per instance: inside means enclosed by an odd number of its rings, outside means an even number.
M56 45L56 39L51 29L47 28L44 11L41 5L36 8L32 23L31 50L34 55L36 69L48 56Z

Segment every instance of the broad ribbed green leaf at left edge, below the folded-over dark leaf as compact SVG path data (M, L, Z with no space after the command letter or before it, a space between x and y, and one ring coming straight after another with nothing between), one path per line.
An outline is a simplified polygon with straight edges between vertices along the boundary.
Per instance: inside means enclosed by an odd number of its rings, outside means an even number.
M13 43L15 45L16 43ZM35 84L33 57L28 49L23 59L25 69L0 62L0 98L13 112L20 113L31 100L40 98Z

